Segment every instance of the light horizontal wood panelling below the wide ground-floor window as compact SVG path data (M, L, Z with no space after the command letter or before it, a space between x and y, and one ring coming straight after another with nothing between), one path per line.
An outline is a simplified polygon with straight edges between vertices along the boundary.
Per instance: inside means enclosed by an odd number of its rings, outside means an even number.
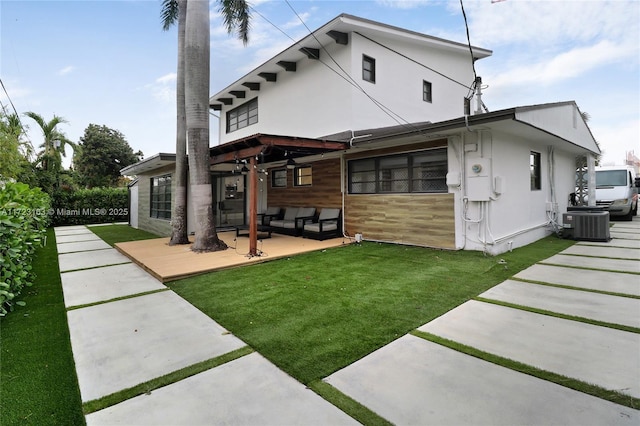
M347 195L345 210L347 235L455 249L453 194Z

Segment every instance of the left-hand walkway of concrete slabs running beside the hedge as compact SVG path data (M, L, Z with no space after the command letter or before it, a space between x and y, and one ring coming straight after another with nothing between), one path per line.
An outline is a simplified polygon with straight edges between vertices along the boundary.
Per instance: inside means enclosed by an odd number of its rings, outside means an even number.
M85 226L55 229L83 403L245 343ZM90 269L86 269L90 268ZM357 424L257 353L86 416L88 425Z

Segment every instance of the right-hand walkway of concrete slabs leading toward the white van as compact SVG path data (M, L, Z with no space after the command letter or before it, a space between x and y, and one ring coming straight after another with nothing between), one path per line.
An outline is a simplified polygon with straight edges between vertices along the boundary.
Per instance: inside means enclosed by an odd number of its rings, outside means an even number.
M419 330L640 397L640 334L515 306L640 327L640 221L612 231L609 243L577 243L480 295L513 307L469 301ZM412 335L325 380L396 424L640 424L638 410Z

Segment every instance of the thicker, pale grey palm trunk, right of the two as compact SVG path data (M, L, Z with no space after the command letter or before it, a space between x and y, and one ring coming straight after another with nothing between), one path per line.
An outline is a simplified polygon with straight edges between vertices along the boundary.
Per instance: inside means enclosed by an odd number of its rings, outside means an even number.
M209 172L209 2L187 1L185 32L185 106L191 203L196 236L191 250L224 250L213 220Z

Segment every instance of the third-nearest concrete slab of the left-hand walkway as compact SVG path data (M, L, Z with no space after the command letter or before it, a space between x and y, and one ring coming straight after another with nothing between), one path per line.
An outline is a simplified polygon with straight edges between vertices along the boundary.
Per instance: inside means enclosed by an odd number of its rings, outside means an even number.
M166 289L134 263L60 274L66 307Z

